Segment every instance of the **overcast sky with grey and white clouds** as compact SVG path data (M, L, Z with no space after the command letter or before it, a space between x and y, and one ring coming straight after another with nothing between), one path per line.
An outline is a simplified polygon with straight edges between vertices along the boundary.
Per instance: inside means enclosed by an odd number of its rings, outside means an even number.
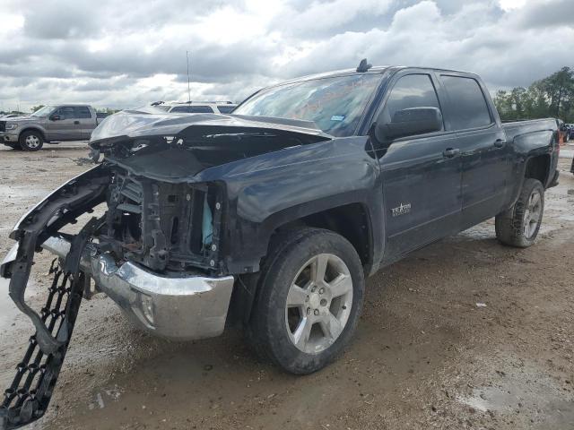
M574 63L574 0L0 0L0 110L240 101L288 78L372 64L528 85Z

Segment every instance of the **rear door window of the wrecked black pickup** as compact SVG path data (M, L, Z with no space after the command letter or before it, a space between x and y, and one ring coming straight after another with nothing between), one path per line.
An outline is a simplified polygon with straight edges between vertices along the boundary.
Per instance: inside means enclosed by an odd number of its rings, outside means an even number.
M449 131L468 130L492 124L491 111L479 83L471 77L441 74L450 108L447 128Z

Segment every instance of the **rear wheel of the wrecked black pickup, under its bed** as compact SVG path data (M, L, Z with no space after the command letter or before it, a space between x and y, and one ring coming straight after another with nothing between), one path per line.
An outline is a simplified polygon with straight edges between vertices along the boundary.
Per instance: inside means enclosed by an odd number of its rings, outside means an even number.
M504 245L526 248L535 243L543 214L544 186L526 178L514 206L496 216L496 236Z

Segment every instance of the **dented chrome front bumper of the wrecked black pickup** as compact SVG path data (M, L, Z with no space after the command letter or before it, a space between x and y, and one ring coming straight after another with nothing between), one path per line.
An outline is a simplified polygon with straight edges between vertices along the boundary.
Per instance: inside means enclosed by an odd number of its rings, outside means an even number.
M41 247L60 258L70 251L70 243L60 237L48 238ZM232 276L171 277L147 271L132 262L117 266L109 254L100 254L90 244L83 253L81 267L90 274L96 289L106 293L144 331L172 340L222 334L233 288Z

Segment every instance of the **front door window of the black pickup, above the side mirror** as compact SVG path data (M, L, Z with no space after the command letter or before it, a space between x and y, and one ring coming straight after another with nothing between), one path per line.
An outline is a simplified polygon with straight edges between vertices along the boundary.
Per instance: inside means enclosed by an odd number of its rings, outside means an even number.
M431 76L428 74L407 74L400 78L387 99L382 117L385 123L390 123L396 112L412 107L437 107L439 99ZM444 130L444 125L442 127Z

